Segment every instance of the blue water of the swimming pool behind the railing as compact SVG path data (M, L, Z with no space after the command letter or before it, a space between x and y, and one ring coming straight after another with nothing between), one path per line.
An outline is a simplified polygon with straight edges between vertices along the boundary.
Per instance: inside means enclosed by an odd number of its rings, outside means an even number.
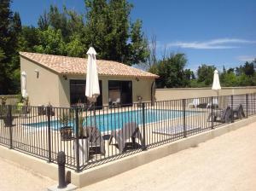
M196 115L200 112L198 111L186 111L185 115ZM147 109L145 110L145 124L153 123L165 119L177 119L183 117L183 111L178 110L160 110L160 109ZM96 115L96 126L101 130L117 130L122 128L124 124L128 122L136 122L137 124L143 124L143 111L129 111L129 112L122 112L122 113L108 113L108 114L101 114ZM40 122L40 123L32 123L32 124L25 124L28 127L32 128L43 128L46 127L48 124L47 121ZM90 126L95 124L95 119L93 116L89 116L84 118L84 125ZM70 121L69 126L75 126L74 121ZM58 130L60 129L63 124L59 121L51 121L50 123L51 129Z

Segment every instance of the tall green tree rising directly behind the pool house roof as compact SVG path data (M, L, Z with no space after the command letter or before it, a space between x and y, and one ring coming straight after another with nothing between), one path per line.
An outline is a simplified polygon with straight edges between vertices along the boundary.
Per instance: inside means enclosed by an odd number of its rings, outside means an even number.
M101 59L128 65L146 60L148 49L141 30L142 21L131 22L131 3L126 0L85 0L85 6L86 47L94 46Z

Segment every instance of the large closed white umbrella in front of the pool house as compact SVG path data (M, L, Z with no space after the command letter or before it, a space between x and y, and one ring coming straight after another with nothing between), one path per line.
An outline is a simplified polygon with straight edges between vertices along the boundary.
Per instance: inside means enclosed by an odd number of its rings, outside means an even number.
M96 51L94 48L90 47L86 54L88 55L88 59L85 96L88 101L95 103L97 96L100 95L99 78L96 67Z

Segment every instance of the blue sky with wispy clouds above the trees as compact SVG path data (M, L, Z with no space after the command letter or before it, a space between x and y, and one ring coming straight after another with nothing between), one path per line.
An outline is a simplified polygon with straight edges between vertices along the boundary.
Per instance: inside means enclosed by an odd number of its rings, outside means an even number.
M166 52L187 55L188 68L202 63L222 69L256 57L255 0L130 0L131 20L143 20L143 31L157 38L159 57ZM84 0L14 0L23 25L37 25L50 4L84 13Z

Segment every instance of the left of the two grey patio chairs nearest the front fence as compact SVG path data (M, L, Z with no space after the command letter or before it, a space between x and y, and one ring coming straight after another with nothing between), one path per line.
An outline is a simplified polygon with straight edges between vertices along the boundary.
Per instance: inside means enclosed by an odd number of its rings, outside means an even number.
M102 137L101 131L96 128L96 126L86 126L84 127L85 135L89 139L90 147L98 147L101 148L101 153L105 154L105 142Z

